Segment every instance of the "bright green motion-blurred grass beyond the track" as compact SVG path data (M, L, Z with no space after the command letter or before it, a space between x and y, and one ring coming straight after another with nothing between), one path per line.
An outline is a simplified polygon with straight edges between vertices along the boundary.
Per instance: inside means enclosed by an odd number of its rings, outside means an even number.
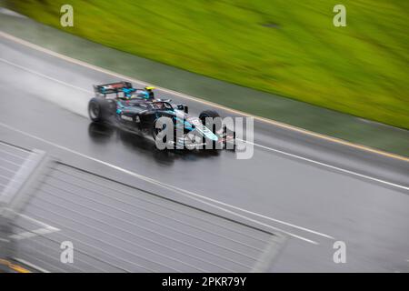
M118 50L409 128L407 1L3 3L37 21ZM60 25L60 7L65 4L74 7L74 27ZM346 7L346 27L333 25L337 4ZM217 96L221 103L227 97ZM242 107L237 109L248 109L245 104ZM263 115L263 108L250 107L254 115Z

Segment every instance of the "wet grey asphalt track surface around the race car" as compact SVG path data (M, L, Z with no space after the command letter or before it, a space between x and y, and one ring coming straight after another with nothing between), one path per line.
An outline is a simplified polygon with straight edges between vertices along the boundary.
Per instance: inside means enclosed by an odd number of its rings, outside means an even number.
M43 149L62 161L129 184L156 187L76 153L91 156L221 201L229 205L225 208L277 227L290 239L271 271L409 271L407 162L260 122L254 122L254 143L261 146L254 147L248 160L237 160L232 152L160 152L149 140L90 125L86 105L92 85L116 81L114 76L3 38L0 72L1 140ZM189 105L193 114L208 108L160 90L158 95ZM336 240L346 243L346 264L333 262Z

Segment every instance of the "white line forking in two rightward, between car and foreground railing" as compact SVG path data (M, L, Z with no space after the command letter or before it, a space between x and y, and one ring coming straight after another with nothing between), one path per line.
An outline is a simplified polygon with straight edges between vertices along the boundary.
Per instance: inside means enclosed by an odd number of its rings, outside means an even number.
M111 167L111 168L114 168L115 170L121 171L121 172L123 172L123 173L125 173L125 174L128 174L128 175L130 175L130 176L135 176L135 177L138 178L138 179L144 180L144 181L149 182L149 183L151 183L151 184L154 184L154 185L156 185L156 186L161 186L161 187L163 187L163 188L165 188L165 189L172 190L173 192L175 192L175 193L178 194L178 195L186 196L186 197L188 197L188 198L190 198L190 199L194 199L194 200L196 200L196 201L199 201L200 203L203 203L203 204L205 204L205 205L212 206L212 207L215 207L215 208L217 208L217 209L220 209L220 210L222 210L222 211L224 211L224 212L226 212L226 213L229 213L229 214L232 214L232 215L234 215L234 216L238 216L238 217L244 218L245 220L254 222L254 223L256 223L256 224L258 224L258 225L260 225L260 226L265 226L265 227L268 227L268 228L270 228L270 229L274 229L274 230L276 230L276 231L280 231L280 232L282 232L282 233L284 233L284 234L286 234L286 235L288 235L288 236L293 236L293 237L295 237L295 238L304 240L305 242L308 242L308 243L311 243L311 244L314 244L314 245L319 245L317 242L315 242L315 241L313 241L313 240L311 240L311 239L305 238L305 237L303 237L303 236L297 236L297 235L295 235L295 234L293 234L293 233L290 233L290 232L285 231L285 230L283 230L283 229L280 229L280 228L278 228L278 227L274 227L274 226L270 226L270 225L268 225L268 224L264 224L264 223L261 222L261 221L255 220L255 219L250 218L250 217L248 217L248 216L240 215L240 214L238 214L238 213L236 213L236 212L234 212L234 211L231 211L231 210L226 209L226 208L221 207L221 206L227 206L227 207L233 208L233 209L235 209L235 210L244 212L244 213L246 213L246 214L250 214L250 215L252 215L252 216L262 217L262 218L264 218L264 219L271 220L271 221L274 221L274 222L276 222L276 223L283 224L283 225L285 225L285 226L291 226L291 227L293 227L293 228L296 228L296 229L299 229L299 230L303 230L303 231L305 231L305 232L314 234L314 235L316 235L316 236L323 236L323 237L325 237L325 238L334 239L333 236L328 236L328 235L325 235L325 234L323 234L323 233L314 231L314 230L312 230L312 229L308 229L308 228L306 228L306 227L295 226L295 225L293 225L293 224L286 223L286 222L284 222L284 221L282 221L282 220L278 220L278 219L274 219L274 218L269 217L269 216L264 216L264 215L261 215L261 214L258 214L258 213L254 213L254 212L252 212L252 211L245 210L245 209L240 208L240 207L237 207L237 206L231 206L231 205L226 204L226 203L224 203L224 202L221 202L221 201L218 201L218 200L214 200L214 199L209 198L209 197L206 197L206 196L201 196L201 195L199 195L199 194L196 194L196 193L194 193L194 192L191 192L191 191L188 191L188 190L185 190L185 189L176 187L176 186L167 185L167 184L162 183L162 182L160 182L160 181L157 181L157 180L155 180L155 179L153 179L153 178L150 178L150 177L147 177L147 176L142 176L142 175L140 175L140 174L136 174L136 173L134 173L134 172L132 172L132 171L126 170L125 168L122 168L122 167L119 167L119 166L115 166L115 165L109 164L109 163L107 163L107 162L105 162L105 161L102 161L102 160L99 160L99 159L97 159L97 158L95 158L95 157L86 156L85 154L79 153L79 152L77 152L77 151L75 151L75 150L72 150L72 149L70 149L70 148L67 148L67 147L65 147L65 146L57 145L57 144L55 144L55 143L53 143L53 142L50 142L50 141L45 140L44 138L41 138L41 137L38 137L38 136L35 136L35 135L31 135L31 134L29 134L29 133L26 133L25 131L19 130L19 129L13 127L13 126L5 125L4 123L1 123L1 122L0 122L0 125L1 125L1 126L4 126L5 128L8 128L8 129L10 129L10 130L13 130L13 131L15 131L15 132L18 132L18 133L20 133L20 134L22 134L22 135L26 135L26 136L29 136L29 137L34 138L34 139L36 139L36 140L39 140L39 141L41 141L41 142L43 142L43 143L45 143L45 144L48 144L48 145L51 145L51 146L55 146L55 147L57 147L57 148L60 148L60 149L65 150L65 151L67 151L67 152L73 153L73 154L75 154L75 155L77 155L77 156L85 157L86 159L95 161L96 163L99 163L99 164L102 164L102 165L105 165L105 166L109 166L109 167ZM209 202L206 202L206 201L209 201ZM211 202L211 203L210 203L210 202ZM221 205L221 206L216 206L216 205L214 205L214 204L218 204L218 205Z

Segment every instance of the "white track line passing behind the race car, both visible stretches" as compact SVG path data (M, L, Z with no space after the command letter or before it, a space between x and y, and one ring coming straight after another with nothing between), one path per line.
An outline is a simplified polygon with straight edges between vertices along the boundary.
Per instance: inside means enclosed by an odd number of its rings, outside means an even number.
M65 83L64 81L55 79L55 78L53 78L53 77L51 77L51 76L44 75L44 74L42 74L42 73L39 73L39 72L36 72L36 71L34 71L34 70L28 69L28 68L26 68L25 66L17 65L17 64L15 64L15 63L13 63L13 62L7 61L7 60L5 60L4 58L1 58L1 57L0 57L0 61L6 63L6 64L8 64L8 65L14 65L14 66L16 66L16 67L18 67L18 68L21 68L21 69L23 69L23 70L29 72L29 73L32 73L32 74L35 74L35 75L39 75L39 76L45 77L46 79L55 81L55 82L57 82L57 83L59 83L59 84L66 85L66 86L69 86L69 87L72 87L72 88L81 90L81 91L86 92L86 93L92 93L92 91L90 91L90 90L86 90L86 89L81 88L81 87L78 87L78 86L76 86L76 85L71 85L71 84ZM339 171L339 172L343 172L343 173L346 173L346 174L349 174L349 175L359 176L359 177L361 177L361 178L365 178L365 179L368 179L368 180L371 180L371 181L375 181L375 182L378 182L378 183L382 183L382 184L384 184L384 185L394 186L394 187L398 187L398 188L401 188L401 189L404 189L404 190L409 190L409 187L407 187L407 186L401 186L401 185L394 184L394 183L391 183L391 182L388 182L388 181L384 181L384 180L381 180L381 179L378 179L378 178L374 178L374 177L372 177L372 176L365 176L365 175L363 175L363 174L359 174L359 173L356 173L356 172L354 172L354 171L346 170L346 169L344 169L344 168L337 167L337 166L331 166L331 165L328 165L328 164L325 164L325 163L322 163L322 162L318 162L318 161L315 161L315 160L313 160L313 159L309 159L309 158L306 158L306 157L303 157L303 156L296 156L296 155L294 155L294 154L290 154L290 153L287 153L287 152L284 152L284 151L275 149L275 148L273 148L273 147L262 146L262 145L259 145L259 144L255 144L255 143L251 143L251 142L245 141L245 140L243 140L243 139L237 139L237 140L239 140L239 141L241 141L241 142L244 142L244 143L247 143L247 144L251 144L251 145L253 145L253 146L259 146L259 147L261 147L261 148L264 148L264 149L267 149L267 150L270 150L270 151L274 151L274 152L276 152L276 153L280 153L280 154L285 155L285 156L292 156L292 157L295 157L295 158L297 158L297 159L304 160L304 161L309 162L309 163L313 163L313 164L315 164L315 165L320 165L320 166L325 166L325 167L328 167L328 168L332 168L332 169L334 169L334 170L337 170L337 171Z

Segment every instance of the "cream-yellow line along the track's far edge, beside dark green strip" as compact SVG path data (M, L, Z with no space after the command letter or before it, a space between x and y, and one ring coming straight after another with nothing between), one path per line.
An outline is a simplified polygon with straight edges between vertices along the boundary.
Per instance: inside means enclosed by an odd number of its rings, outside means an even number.
M113 71L106 70L106 69L104 69L102 67L85 63L85 62L77 60L77 59L75 59L73 57L69 57L67 55L61 55L61 54L55 53L54 51L46 49L45 47L42 47L40 45L32 44L30 42L25 41L24 39L15 37L14 35L6 34L3 31L0 31L0 36L6 38L8 40L14 41L17 44L25 45L27 47L35 49L36 51L43 52L43 53L45 53L47 55L53 55L55 57L61 58L61 59L65 60L66 62L70 62L70 63L76 64L76 65L82 65L82 66L85 66L87 68L93 69L95 71L104 73L106 75L113 75L113 76L115 76L117 78L125 79L125 80L131 81L131 82L147 84L147 82L144 82L144 81L141 81L141 80L136 80L136 79L131 78L129 76L121 75L121 74L115 73ZM387 153L387 152L384 152L382 150L374 149L374 148L369 147L369 146L354 144L354 143L347 142L345 140L335 138L335 137L332 137L332 136L317 134L317 133L314 133L312 131L306 130L304 128L296 127L294 125L287 125L287 124L284 124L282 122L278 122L278 121L268 119L268 118L264 118L264 117L257 116L257 115L250 115L250 114L245 113L243 111L235 110L235 109L226 107L224 105L218 105L216 103L206 101L206 100L203 100L203 99L200 99L200 98L195 98L195 97L190 96L190 95L185 95L185 94L182 94L180 92L177 92L177 91L174 91L174 90L169 90L169 89L163 88L163 87L158 86L158 85L153 85L153 86L155 86L157 89L159 89L159 90L161 90L161 91L163 91L165 93L169 93L169 94L172 94L172 95L177 95L177 96L185 98L187 100L192 100L192 101L202 103L202 104L205 104L205 105L214 106L216 108L219 108L219 109L222 109L224 111L231 112L231 113L234 113L234 114L237 114L237 115L251 116L251 117L254 117L254 119L256 119L258 121L261 121L261 122L264 122L264 123L267 123L267 124L270 124L270 125L275 125L275 126L278 126L278 127L286 128L286 129L289 129L289 130L292 130L292 131L303 133L304 135L311 135L311 136L321 138L321 139L324 139L326 141L330 141L330 142L333 142L333 143L336 143L336 144L341 144L341 145L344 145L344 146L354 147L354 148L364 150L366 152L371 152L371 153L374 153L374 154L377 154L377 155L388 156L388 157L392 157L392 158L395 158L395 159L398 159L398 160L401 160L401 161L409 162L409 157L399 156L399 155L396 155L396 154Z

